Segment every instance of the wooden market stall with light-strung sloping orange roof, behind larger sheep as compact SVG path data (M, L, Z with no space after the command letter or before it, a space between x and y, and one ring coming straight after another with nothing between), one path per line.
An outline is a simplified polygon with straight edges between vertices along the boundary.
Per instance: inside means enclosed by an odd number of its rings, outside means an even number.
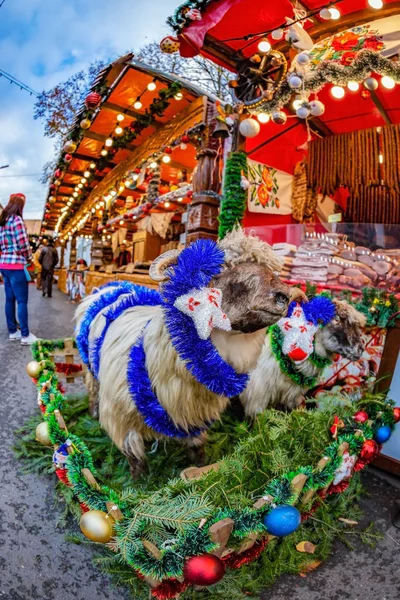
M99 74L64 144L42 223L61 246L60 289L79 298L117 278L155 287L152 260L199 232L213 235L222 148L210 139L215 101L131 55ZM212 218L188 223L198 195ZM77 261L82 242L91 243L86 264Z

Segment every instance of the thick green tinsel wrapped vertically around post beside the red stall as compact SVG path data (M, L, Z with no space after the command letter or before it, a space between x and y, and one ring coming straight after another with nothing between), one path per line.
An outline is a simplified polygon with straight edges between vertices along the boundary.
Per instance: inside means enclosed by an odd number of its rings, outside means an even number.
M224 192L218 229L220 239L243 221L247 191L241 186L242 173L245 177L247 176L247 156L245 152L232 152L225 167Z

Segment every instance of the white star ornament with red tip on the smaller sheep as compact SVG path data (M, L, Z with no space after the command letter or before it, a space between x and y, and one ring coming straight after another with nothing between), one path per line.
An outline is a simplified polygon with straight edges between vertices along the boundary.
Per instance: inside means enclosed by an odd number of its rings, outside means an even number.
M318 325L307 321L300 304L297 304L290 317L278 321L283 333L282 352L295 362L303 362L314 350L314 335Z

